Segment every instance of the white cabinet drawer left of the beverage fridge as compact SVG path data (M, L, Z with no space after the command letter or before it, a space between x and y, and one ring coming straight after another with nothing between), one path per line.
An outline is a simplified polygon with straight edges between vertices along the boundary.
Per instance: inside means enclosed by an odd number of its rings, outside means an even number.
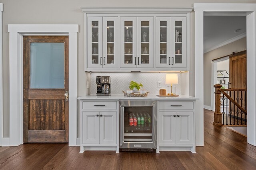
M83 109L116 109L116 102L83 102Z

